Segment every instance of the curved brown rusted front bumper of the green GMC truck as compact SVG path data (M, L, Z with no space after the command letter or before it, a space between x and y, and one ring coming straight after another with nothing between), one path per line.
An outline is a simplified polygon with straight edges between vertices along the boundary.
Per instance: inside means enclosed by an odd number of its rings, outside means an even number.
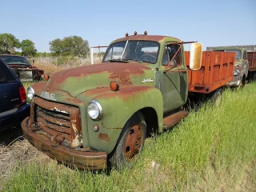
M105 152L92 152L75 150L66 146L58 145L51 141L46 134L40 133L29 127L29 117L22 121L22 132L32 146L44 154L66 165L77 166L85 170L106 169L107 155Z

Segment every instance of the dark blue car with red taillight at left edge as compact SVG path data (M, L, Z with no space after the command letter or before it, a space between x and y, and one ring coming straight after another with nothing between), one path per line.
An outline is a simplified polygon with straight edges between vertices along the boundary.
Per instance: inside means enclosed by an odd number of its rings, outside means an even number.
M0 58L0 131L20 126L30 116L30 104L26 102L26 90L18 76Z

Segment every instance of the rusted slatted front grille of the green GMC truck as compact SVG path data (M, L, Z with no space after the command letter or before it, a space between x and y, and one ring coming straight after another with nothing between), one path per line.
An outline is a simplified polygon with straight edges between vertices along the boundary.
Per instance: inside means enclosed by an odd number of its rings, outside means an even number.
M55 142L64 140L81 146L82 133L78 107L34 98L34 120Z

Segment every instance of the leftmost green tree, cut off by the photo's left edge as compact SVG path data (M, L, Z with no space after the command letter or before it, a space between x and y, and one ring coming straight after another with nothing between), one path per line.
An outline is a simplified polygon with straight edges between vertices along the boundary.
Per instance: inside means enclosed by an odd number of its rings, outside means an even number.
M1 54L14 54L15 48L20 48L18 38L13 34L0 34L0 53Z

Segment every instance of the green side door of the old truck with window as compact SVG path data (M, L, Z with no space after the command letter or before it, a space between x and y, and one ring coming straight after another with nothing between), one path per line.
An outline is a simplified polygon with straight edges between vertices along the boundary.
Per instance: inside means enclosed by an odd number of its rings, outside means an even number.
M188 71L182 44L166 44L159 72L164 113L183 106L187 98Z

